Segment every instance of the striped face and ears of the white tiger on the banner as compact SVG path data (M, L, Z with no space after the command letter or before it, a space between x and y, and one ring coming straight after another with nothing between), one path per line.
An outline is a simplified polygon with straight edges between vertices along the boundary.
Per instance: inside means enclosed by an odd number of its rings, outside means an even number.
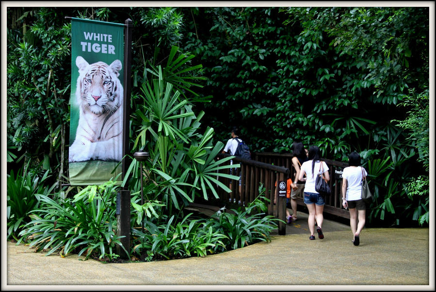
M121 61L115 60L111 65L88 64L78 56L76 65L79 68L77 101L83 109L96 115L115 112L121 102L122 86L118 79Z

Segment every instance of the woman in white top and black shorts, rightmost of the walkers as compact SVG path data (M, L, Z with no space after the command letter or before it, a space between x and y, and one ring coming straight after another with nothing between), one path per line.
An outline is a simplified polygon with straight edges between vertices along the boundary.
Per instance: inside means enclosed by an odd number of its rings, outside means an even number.
M350 166L342 172L342 205L350 210L353 243L359 245L359 235L365 226L366 216L366 203L361 198L362 176L367 176L367 172L360 166L360 155L355 151L348 156L348 164Z

